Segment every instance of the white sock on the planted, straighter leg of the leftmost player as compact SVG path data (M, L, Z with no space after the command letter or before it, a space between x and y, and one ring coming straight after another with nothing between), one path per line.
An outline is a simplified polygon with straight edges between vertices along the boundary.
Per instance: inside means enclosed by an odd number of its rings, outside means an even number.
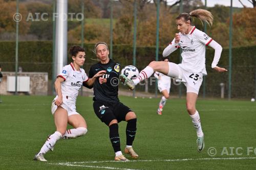
M56 143L56 141L61 139L61 137L62 135L60 132L58 131L54 132L54 134L52 134L47 138L47 141L45 142L44 145L42 145L42 148L39 153L46 154L48 151L50 151L50 149L54 147L54 144Z

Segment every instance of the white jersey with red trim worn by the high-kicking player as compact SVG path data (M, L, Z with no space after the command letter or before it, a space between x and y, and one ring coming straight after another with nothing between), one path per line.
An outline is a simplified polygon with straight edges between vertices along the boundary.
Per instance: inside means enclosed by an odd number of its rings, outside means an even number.
M169 55L174 51L173 49L171 50L174 45L176 49L181 47L182 62L179 66L188 72L202 72L203 75L207 75L205 69L205 45L208 45L212 41L212 38L204 32L196 29L195 26L188 34L179 33L179 36L180 42L175 44L174 38L166 47L166 54ZM168 53L168 51L170 52ZM163 56L166 54L163 53Z

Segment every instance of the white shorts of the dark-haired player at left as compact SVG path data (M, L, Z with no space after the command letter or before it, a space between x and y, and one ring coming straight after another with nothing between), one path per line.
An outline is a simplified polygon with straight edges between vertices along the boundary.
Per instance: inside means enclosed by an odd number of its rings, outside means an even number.
M54 114L58 108L58 106L54 104L54 102L57 98L58 98L58 96L56 96L54 98L54 100L52 101L52 107L51 107L52 114ZM71 96L63 95L62 100L63 100L63 103L62 103L61 107L65 110L67 110L68 116L71 116L73 114L79 114L76 112L76 99L72 98Z

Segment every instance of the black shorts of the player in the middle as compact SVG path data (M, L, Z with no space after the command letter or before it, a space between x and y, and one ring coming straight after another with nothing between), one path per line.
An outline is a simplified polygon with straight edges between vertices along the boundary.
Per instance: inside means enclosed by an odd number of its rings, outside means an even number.
M97 117L109 126L110 122L117 119L118 123L125 121L125 116L132 110L121 102L94 101L93 109Z

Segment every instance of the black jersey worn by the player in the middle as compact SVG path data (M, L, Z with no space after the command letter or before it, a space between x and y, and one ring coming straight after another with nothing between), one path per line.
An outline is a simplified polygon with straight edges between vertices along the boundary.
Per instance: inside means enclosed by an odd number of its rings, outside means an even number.
M106 70L106 74L103 78L106 79L106 83L100 84L97 79L93 85L94 101L105 101L105 102L119 102L118 99L118 83L119 83L119 72L120 64L110 61L106 64L98 62L91 66L89 71L89 78L92 78L97 72Z

